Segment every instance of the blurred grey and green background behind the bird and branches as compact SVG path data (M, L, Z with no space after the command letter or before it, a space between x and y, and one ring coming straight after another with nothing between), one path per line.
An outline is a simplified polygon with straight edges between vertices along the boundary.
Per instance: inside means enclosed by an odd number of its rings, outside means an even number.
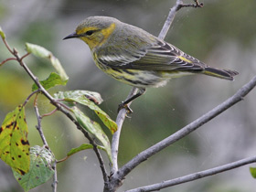
M59 58L69 75L65 90L89 90L101 93L101 108L115 119L117 105L131 90L130 86L112 80L93 64L89 48L80 40L62 41L87 16L113 16L142 27L155 36L160 32L169 8L175 0L0 0L0 26L7 40L20 54L25 42L48 48ZM193 3L192 0L185 0ZM184 8L178 12L165 40L188 54L217 68L240 72L235 81L207 76L190 76L171 80L167 86L148 89L133 102L131 119L123 124L119 165L123 165L145 148L208 112L238 91L256 74L256 1L204 0L204 8ZM10 57L0 42L0 61ZM43 80L53 71L48 61L29 56L28 67ZM0 122L5 114L26 100L32 80L16 62L0 68ZM119 191L162 180L184 176L255 155L256 92L251 91L229 111L164 151L151 157L126 176ZM27 106L28 139L31 145L42 142L35 125L32 101ZM52 110L43 97L40 112ZM84 109L86 111L86 109ZM86 111L95 121L93 112ZM71 147L86 139L60 112L43 120L48 143L58 159ZM105 129L108 133L108 131ZM110 135L111 136L111 135ZM104 159L107 161L106 156ZM255 165L254 165L255 166ZM250 165L210 176L162 191L253 192L256 180ZM58 165L61 192L102 191L103 181L98 160L91 151L80 152ZM31 191L51 191L52 180ZM9 166L0 161L0 191L22 191Z

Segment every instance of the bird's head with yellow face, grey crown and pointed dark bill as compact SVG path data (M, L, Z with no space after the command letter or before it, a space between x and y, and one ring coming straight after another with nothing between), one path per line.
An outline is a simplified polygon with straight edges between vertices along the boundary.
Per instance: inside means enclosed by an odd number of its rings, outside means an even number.
M119 20L109 16L90 16L84 19L76 31L64 39L78 37L91 49L102 45L113 33Z

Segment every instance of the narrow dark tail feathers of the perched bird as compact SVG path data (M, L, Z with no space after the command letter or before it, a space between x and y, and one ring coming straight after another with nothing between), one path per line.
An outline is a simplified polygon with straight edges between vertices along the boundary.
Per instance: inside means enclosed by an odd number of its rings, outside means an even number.
M217 77L225 80L234 80L234 76L238 75L239 72L229 69L216 69L216 68L205 68L203 71L205 75Z

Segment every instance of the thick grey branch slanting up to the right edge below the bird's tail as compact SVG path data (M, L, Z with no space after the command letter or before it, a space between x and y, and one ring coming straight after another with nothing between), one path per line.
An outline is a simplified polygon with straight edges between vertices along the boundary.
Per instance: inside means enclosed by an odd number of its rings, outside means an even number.
M170 144L174 144L176 141L180 140L181 138L187 136L187 134L197 130L197 128L201 127L203 124L208 123L211 119L218 116L221 112L226 111L231 106L236 104L237 102L243 100L243 98L256 86L256 76L250 80L247 84L242 86L239 91L237 91L233 96L231 96L228 100L222 102L213 110L207 112L203 116L199 117L192 123L187 124L184 128L180 129L176 133L168 136L161 142L154 144L153 146L149 147L148 149L141 152L139 155L136 155L131 161L127 164L123 165L117 173L116 178L123 179L124 176L129 174L133 168L137 165L140 165L146 159L155 155L157 152L163 150L165 147L169 146Z

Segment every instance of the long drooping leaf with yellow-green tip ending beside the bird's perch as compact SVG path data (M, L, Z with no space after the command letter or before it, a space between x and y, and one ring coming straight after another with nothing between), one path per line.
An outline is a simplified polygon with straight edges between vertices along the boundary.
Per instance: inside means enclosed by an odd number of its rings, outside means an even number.
M55 94L54 97L56 99L63 99L64 101L76 101L82 105L89 107L99 116L101 122L110 129L111 133L115 133L117 130L117 124L106 112L103 112L100 107L98 107L94 102L88 99L88 97L86 97L83 93L83 91L65 91Z

